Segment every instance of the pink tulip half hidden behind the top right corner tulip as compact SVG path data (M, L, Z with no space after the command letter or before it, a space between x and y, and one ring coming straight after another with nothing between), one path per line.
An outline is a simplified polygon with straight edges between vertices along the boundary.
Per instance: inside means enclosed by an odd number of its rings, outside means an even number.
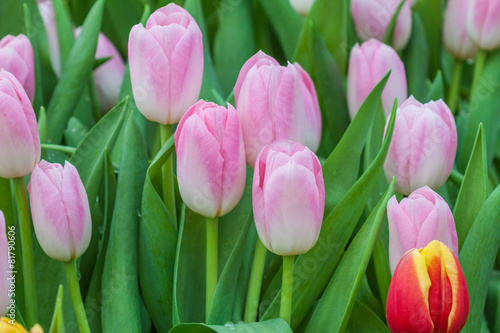
M448 0L444 14L444 46L454 57L462 60L474 58L477 52L477 46L467 34L464 24L470 4L471 0Z

